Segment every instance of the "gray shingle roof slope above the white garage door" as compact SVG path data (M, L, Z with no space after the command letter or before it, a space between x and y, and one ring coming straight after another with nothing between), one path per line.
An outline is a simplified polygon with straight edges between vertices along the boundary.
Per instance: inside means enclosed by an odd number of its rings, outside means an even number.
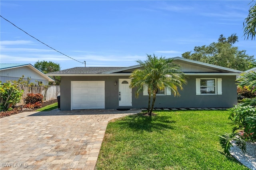
M98 74L106 71L122 69L124 67L74 67L61 71L52 72L54 74ZM50 73L50 74L52 74Z

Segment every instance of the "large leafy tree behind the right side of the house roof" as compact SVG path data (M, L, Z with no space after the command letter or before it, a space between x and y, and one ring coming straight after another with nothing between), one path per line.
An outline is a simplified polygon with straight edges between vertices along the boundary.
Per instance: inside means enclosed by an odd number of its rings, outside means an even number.
M251 68L250 64L255 61L254 55L247 55L246 50L238 50L238 47L233 46L236 42L238 42L236 34L228 38L221 34L218 42L196 46L194 51L187 51L182 57L240 71L248 70Z

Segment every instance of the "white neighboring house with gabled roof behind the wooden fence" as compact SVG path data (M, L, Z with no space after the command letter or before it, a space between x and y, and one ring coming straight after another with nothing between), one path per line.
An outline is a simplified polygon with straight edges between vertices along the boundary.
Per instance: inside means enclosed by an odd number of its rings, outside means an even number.
M24 75L24 79L29 79L29 83L48 85L49 81L54 81L31 64L0 64L0 81L5 83L10 80L18 80Z

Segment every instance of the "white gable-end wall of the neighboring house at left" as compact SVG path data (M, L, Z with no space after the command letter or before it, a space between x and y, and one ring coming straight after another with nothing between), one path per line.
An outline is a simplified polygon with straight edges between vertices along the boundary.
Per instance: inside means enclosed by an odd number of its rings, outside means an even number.
M37 85L37 81L42 81L44 85L48 84L48 80L46 80L42 75L39 75L29 67L18 67L12 69L6 69L1 71L0 81L6 82L10 80L18 80L22 75L24 78L30 78L30 83L35 83Z

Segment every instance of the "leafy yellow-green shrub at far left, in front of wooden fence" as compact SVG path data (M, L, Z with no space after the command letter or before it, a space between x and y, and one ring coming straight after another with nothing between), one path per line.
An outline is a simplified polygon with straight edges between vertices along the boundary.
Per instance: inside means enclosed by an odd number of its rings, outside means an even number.
M0 81L0 111L7 111L13 105L20 102L23 90L20 90L18 85L8 81L3 83Z

